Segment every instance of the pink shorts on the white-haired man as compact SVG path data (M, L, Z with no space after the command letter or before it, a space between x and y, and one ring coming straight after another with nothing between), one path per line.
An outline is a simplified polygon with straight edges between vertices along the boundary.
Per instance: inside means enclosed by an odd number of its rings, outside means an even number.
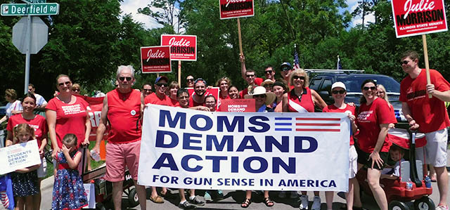
M125 166L134 180L138 180L141 141L123 144L106 144L106 176L110 182L124 181Z

